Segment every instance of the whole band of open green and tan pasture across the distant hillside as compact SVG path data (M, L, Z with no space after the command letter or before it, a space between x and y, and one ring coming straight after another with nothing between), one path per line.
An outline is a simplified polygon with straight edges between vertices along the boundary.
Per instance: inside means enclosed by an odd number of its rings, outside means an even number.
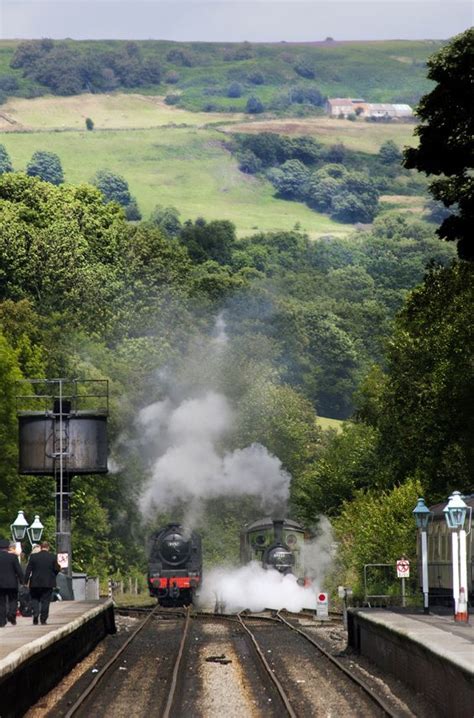
M84 131L85 118L95 123ZM239 235L256 229L300 227L316 238L347 234L351 227L298 202L274 197L264 179L239 172L225 149L234 131L307 134L323 144L344 142L366 153L393 139L413 141L413 125L349 122L328 118L255 119L241 114L195 113L169 107L161 98L138 94L85 94L73 97L12 98L0 110L0 142L13 165L23 170L36 150L56 152L67 182L86 182L98 169L123 175L144 217L156 204L177 207L182 219L230 219ZM420 211L417 198L384 199L385 209ZM413 203L414 201L414 203Z

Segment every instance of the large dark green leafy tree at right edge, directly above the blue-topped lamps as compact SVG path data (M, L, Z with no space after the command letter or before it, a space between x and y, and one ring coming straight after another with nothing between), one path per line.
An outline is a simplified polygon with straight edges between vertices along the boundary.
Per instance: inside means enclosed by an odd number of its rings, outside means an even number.
M361 395L392 481L417 476L431 500L474 488L473 310L470 263L431 269L397 317L376 399Z

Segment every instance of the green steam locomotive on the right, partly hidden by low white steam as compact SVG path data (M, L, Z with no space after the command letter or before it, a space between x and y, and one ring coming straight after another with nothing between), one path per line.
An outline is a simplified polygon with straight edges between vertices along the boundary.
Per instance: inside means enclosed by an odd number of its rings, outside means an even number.
M304 528L296 521L259 519L240 532L240 561L258 561L265 569L292 573L298 583L305 585L304 539Z

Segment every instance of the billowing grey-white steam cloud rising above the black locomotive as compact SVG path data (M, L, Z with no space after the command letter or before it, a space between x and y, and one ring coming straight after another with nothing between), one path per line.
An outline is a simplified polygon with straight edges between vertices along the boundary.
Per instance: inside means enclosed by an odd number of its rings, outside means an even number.
M290 476L264 446L219 449L233 423L222 394L210 391L177 406L165 399L143 409L138 421L148 446L156 447L143 511L224 496L257 497L265 511L287 501Z

